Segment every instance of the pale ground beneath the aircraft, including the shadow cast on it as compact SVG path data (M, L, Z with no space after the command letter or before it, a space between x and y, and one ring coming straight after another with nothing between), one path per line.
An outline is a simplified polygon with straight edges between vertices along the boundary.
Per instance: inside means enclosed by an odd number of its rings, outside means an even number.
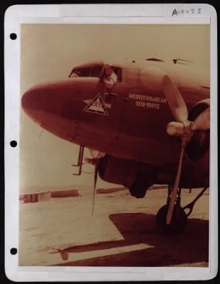
M182 190L182 207L201 189ZM79 197L20 204L19 266L208 267L209 190L194 205L187 228L164 236L155 215L167 190L143 199L128 190L79 190ZM106 193L101 193L106 192Z

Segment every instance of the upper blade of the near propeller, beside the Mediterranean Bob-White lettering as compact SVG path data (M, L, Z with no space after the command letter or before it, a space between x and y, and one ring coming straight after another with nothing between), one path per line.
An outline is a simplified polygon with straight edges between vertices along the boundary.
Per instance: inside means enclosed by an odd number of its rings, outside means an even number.
M186 121L188 118L187 106L175 83L172 82L169 76L165 75L162 84L172 115L176 121Z

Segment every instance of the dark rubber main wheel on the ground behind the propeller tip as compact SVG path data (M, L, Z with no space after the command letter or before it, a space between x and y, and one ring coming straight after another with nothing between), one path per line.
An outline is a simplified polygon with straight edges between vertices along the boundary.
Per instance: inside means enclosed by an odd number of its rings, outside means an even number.
M166 224L168 206L167 204L160 208L156 216L156 225L158 231L162 234L178 234L187 226L187 214L182 207L175 205L172 220L169 225Z

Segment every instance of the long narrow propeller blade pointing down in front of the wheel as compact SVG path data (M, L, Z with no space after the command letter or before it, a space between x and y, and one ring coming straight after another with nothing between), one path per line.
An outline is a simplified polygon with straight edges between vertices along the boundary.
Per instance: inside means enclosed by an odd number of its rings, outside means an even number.
M168 207L168 211L167 211L167 219L166 219L166 223L167 225L170 224L171 219L172 219L172 213L173 213L173 209L175 206L175 200L177 197L177 190L179 188L180 185L180 176L181 176L181 172L182 172L182 159L183 159L183 155L185 153L185 146L186 146L186 142L183 140L182 141L182 148L181 148L181 153L180 153L180 161L179 161L179 165L178 165L178 170L177 170L177 175L175 178L175 182L172 188L172 196L170 199L170 204Z

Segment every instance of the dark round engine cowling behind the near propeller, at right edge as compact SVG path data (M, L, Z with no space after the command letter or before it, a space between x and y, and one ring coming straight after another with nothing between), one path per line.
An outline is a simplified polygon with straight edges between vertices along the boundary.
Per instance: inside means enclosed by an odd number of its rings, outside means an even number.
M198 102L189 111L188 120L194 121L199 114L205 109L210 107L210 99L204 99ZM210 131L208 130L196 130L187 144L186 153L190 160L198 160L202 158L209 150L210 144Z

